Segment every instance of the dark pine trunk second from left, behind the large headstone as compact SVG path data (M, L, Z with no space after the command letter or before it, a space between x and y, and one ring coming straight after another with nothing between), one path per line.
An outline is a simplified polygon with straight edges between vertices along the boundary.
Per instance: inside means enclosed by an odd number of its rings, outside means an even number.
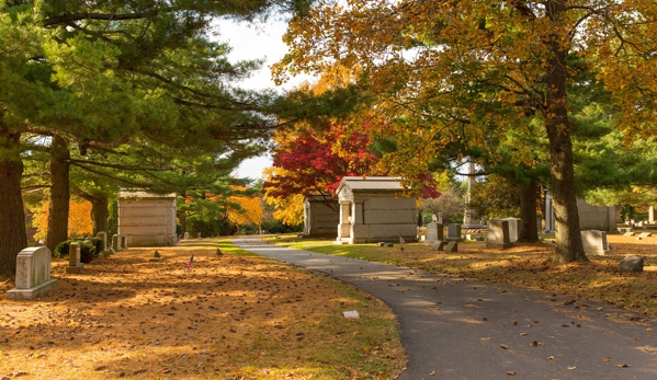
M66 140L55 136L50 149L50 205L48 208L48 233L46 246L55 246L68 239L68 201L70 152Z

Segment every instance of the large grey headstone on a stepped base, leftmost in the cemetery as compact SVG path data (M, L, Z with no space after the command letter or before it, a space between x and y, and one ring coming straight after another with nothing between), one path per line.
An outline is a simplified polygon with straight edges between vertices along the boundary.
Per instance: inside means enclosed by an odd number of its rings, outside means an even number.
M50 250L31 246L21 251L16 256L15 284L4 293L7 299L34 299L50 290L57 284L50 278Z

